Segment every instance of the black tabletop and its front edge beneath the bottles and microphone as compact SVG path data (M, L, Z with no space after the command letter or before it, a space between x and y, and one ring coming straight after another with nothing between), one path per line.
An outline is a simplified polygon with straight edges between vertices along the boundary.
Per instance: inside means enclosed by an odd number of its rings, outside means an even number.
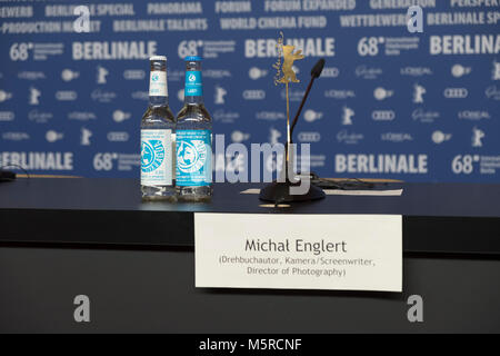
M402 196L328 196L289 208L262 207L216 184L208 204L142 202L137 179L18 179L0 184L0 243L119 246L193 245L194 212L387 214L403 216L407 253L500 255L500 185L390 184Z

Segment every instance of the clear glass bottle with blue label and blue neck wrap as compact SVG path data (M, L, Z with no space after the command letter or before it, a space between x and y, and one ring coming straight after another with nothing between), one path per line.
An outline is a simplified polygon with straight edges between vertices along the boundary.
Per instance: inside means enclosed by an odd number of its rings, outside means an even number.
M184 106L177 116L177 191L179 200L212 196L212 119L203 105L201 58L186 58Z

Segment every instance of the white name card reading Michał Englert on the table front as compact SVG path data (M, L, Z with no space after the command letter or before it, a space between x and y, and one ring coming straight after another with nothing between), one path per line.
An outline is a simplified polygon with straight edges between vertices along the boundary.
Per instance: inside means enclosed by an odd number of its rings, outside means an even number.
M402 291L402 217L194 214L196 286Z

